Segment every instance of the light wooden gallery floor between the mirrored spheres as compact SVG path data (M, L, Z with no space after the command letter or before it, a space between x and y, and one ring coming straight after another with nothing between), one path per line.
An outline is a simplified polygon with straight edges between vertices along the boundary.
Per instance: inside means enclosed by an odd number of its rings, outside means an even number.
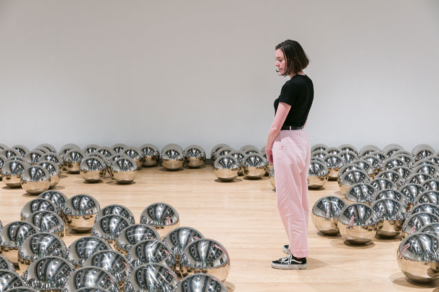
M19 220L23 205L35 197L23 189L0 184L0 220L4 226ZM108 176L102 183L88 184L79 174L63 174L55 189L68 197L89 194L101 207L123 204L137 222L148 204L171 204L180 215L180 226L196 228L228 250L229 291L439 291L438 282L422 285L406 280L396 263L400 239L375 238L367 245L350 245L340 235L318 233L311 219L308 268L272 269L270 261L284 256L282 245L287 237L276 209L276 193L267 176L257 181L239 176L223 183L217 180L211 165L176 172L158 166L140 170L130 185L117 185ZM310 209L318 198L331 194L340 196L336 182L309 191ZM70 245L80 236L67 230L64 241Z

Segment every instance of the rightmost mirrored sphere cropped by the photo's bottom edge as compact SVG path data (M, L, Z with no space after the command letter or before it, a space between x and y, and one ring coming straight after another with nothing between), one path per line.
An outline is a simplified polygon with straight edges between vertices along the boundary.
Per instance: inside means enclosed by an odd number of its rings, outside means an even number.
M227 292L226 286L212 275L193 274L183 278L176 292Z

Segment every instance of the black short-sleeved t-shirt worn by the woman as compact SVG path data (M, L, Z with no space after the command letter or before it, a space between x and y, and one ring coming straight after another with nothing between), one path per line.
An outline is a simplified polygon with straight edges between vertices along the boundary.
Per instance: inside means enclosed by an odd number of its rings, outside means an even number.
M303 127L314 99L313 81L307 75L294 75L282 86L281 95L274 101L274 114L279 103L291 105L283 126Z

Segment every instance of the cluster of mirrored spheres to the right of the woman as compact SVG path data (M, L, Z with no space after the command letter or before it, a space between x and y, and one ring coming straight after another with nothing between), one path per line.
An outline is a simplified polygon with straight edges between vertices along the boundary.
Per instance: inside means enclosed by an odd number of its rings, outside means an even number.
M311 219L325 235L364 244L375 236L402 239L396 258L407 278L439 278L439 153L427 144L412 152L398 144L357 151L344 144L311 148L309 189L337 180L342 197L324 196Z

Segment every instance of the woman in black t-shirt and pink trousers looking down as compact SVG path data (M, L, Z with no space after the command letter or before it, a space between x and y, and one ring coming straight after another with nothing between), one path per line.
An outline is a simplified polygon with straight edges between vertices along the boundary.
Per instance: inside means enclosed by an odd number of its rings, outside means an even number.
M285 40L276 46L276 67L289 76L274 101L275 117L268 132L265 152L274 164L277 206L289 245L285 258L272 261L275 269L306 269L308 245L308 184L310 146L305 124L313 103L313 83L302 71L309 60L300 44Z

